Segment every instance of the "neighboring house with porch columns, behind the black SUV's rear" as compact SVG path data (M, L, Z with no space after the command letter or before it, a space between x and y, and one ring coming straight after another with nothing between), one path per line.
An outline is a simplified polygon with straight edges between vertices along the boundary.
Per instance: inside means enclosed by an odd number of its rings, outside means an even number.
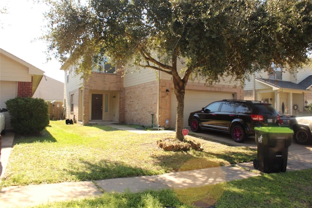
M296 73L274 70L258 73L246 82L244 99L272 103L279 113L300 115L304 106L312 103L312 69L305 67Z

